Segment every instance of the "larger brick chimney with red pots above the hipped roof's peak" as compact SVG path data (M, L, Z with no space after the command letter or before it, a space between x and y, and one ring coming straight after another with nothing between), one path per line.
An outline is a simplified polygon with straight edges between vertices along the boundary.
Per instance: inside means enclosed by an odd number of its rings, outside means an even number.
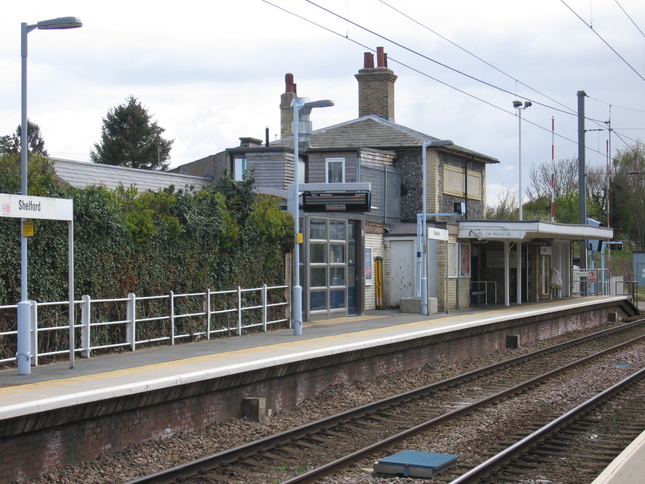
M394 82L397 76L387 67L387 54L383 47L374 54L365 52L363 68L356 74L358 81L358 116L375 114L394 122Z

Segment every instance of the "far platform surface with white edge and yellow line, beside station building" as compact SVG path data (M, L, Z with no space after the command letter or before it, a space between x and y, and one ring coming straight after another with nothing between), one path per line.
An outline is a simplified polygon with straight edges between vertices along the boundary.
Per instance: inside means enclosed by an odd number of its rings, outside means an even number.
M550 314L595 304L625 301L622 296L567 299L510 307L483 306L452 314L370 311L364 316L305 323L290 329L210 341L162 346L110 356L76 359L32 368L0 371L0 420L69 405L117 398L305 358L403 342L520 317ZM342 336L339 340L338 337Z

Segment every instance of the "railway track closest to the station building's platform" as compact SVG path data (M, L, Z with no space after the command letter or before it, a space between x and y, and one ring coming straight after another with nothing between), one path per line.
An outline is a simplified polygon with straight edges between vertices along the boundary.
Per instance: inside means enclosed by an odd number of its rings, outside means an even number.
M584 378L583 373L576 376L574 372L642 341L644 324L621 325L513 358L130 483L315 482L352 463L373 460L372 456L438 425L467 418L517 395L539 393L550 380ZM542 413L536 411L535 422L552 418ZM458 467L458 472L472 467Z

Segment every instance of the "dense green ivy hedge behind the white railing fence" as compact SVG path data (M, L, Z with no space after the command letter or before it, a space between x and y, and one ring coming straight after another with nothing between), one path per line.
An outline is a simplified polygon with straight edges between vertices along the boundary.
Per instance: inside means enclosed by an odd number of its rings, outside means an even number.
M74 200L75 298L121 298L282 285L293 218L253 179L200 190L137 192L59 186L51 161L32 157L30 195ZM19 160L0 157L0 192L19 193ZM29 240L29 298L68 297L67 224L36 220ZM0 305L20 300L20 221L0 219ZM15 329L0 316L0 331Z

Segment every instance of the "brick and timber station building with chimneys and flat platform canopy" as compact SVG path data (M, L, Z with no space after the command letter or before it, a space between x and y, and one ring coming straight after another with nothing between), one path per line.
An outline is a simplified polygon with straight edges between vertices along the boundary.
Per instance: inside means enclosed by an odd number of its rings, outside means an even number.
M570 296L572 242L609 240L611 229L485 220L486 168L499 161L397 124L397 76L382 48L376 63L365 53L355 77L358 118L311 130L309 120L300 119L303 319L386 307L418 311L424 284L430 312ZM287 208L296 171L291 106L297 97L287 74L279 140L269 142L268 133L264 142L240 138L237 147L173 171L211 179L230 173L239 180L251 172L258 191L282 198ZM311 186L318 194L321 185L323 192L349 194L366 184L366 211L328 206L310 212L303 198ZM419 222L424 194L426 214ZM459 212L456 204L463 207ZM424 222L427 228L420 230ZM425 243L421 234L427 234ZM559 292L552 290L555 280Z

